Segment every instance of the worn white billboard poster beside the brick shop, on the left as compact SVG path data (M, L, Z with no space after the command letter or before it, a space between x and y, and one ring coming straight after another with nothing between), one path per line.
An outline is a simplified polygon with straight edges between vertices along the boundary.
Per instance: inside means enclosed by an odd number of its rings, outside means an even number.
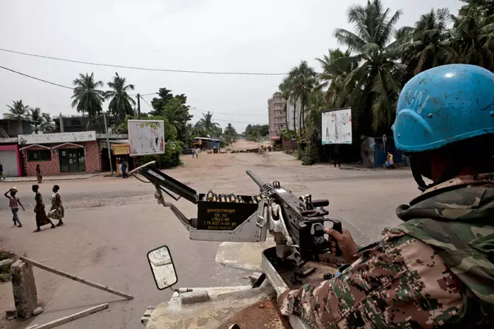
M164 153L163 120L128 120L130 156Z

